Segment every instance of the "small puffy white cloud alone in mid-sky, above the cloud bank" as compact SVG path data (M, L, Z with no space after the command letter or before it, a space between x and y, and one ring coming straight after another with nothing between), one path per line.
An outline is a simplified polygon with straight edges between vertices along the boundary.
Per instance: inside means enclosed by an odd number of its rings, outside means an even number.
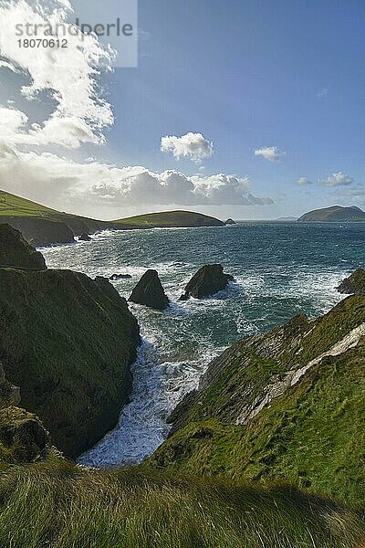
M214 153L214 144L205 139L202 133L186 133L182 137L170 135L162 137L162 153L172 153L176 160L190 158L194 163L201 163Z

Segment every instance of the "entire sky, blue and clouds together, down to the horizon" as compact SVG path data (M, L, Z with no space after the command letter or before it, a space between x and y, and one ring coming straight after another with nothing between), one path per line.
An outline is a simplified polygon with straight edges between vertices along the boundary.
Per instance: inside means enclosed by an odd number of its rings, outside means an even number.
M365 207L363 0L139 0L135 68L95 35L16 45L80 1L0 0L0 188L99 218Z

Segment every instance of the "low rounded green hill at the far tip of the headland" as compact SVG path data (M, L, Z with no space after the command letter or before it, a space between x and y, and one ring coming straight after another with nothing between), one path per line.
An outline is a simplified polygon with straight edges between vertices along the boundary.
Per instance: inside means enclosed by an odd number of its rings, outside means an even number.
M114 221L118 224L129 224L138 227L223 227L224 222L212 216L193 211L162 211L146 215L132 216Z

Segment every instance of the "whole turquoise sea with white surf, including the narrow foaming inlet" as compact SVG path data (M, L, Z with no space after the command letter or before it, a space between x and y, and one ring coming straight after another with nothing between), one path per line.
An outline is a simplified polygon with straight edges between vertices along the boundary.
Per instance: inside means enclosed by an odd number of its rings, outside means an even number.
M143 338L131 403L118 427L80 462L109 467L151 455L168 434L166 416L217 353L299 311L315 317L339 302L339 281L364 266L364 237L365 223L247 222L103 232L91 242L42 249L49 268L91 277L130 274L113 282L126 298L146 269L157 269L172 301L165 312L131 305ZM236 281L212 299L178 302L193 273L213 262Z

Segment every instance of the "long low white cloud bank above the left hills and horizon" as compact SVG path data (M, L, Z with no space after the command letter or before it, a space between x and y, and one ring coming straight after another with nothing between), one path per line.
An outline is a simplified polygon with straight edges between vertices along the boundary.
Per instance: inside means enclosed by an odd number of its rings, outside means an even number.
M142 166L76 163L51 153L19 153L0 147L0 187L54 206L85 202L138 205L266 205L253 195L247 177L187 176L175 170L155 173ZM57 188L57 203L55 203Z

